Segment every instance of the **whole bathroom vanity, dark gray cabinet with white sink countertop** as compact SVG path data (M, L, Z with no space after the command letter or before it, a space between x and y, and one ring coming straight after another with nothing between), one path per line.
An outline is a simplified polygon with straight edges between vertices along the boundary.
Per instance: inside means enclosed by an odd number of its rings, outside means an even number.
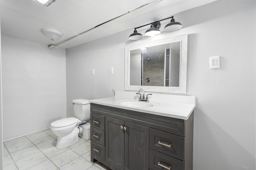
M192 170L195 97L153 94L143 107L137 97L90 101L91 161L113 170Z

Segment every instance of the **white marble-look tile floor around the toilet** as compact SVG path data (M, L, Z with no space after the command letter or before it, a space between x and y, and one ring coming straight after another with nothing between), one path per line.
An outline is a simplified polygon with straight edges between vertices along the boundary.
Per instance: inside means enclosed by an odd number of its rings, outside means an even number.
M79 137L80 138L80 137ZM4 170L110 170L90 162L90 140L56 148L57 137L50 129L4 142Z

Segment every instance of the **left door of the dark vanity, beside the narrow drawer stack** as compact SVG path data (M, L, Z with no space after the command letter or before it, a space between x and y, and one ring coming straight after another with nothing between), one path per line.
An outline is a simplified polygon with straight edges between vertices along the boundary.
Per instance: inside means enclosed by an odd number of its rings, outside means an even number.
M105 117L105 160L124 169L124 121Z

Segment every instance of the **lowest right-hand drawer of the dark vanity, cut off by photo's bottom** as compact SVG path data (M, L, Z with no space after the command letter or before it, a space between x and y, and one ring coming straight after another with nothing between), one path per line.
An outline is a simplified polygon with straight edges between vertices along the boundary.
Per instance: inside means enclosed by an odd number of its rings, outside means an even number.
M152 170L184 170L184 162L150 149L149 167Z

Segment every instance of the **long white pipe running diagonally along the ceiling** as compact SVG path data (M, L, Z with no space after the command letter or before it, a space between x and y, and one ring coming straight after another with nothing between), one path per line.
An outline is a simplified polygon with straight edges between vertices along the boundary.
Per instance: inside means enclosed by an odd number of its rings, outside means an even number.
M140 8L144 8L144 7L148 6L148 5L155 4L155 3L158 3L158 2L160 2L160 1L162 1L162 0L155 0L155 1L150 2L150 3L148 3L148 4L144 4L144 5L142 5L142 6L138 7L138 8L136 8L136 9L134 9L134 10L132 10L132 11L128 11L128 12L126 12L125 14L122 14L122 15L120 15L120 16L117 16L116 18L112 18L111 20L108 20L108 21L106 21L106 22L104 22L104 23L101 23L101 24L99 24L99 25L97 25L97 26L95 26L95 27L93 27L93 28L91 28L91 29L88 29L87 31L84 31L84 32L82 32L82 33L80 33L80 34L78 34L78 35L75 35L74 37L71 37L71 38L69 38L69 39L66 39L65 41L63 41L63 42L61 42L61 43L59 43L59 44L50 44L50 45L48 45L48 48L49 48L49 49L58 48L58 47L60 47L60 46L62 46L62 45L64 45L64 44L66 44L66 43L69 43L69 42L72 41L73 39L76 39L76 38L80 37L81 35L84 35L86 32L91 31L92 29L95 29L95 28L99 27L100 25L104 25L105 23L108 23L108 22L110 22L110 21L112 21L112 20L115 20L115 19L120 18L120 17L122 17L122 16L125 16L125 15L127 15L127 14L130 14L130 13L136 11L136 10L139 10Z

